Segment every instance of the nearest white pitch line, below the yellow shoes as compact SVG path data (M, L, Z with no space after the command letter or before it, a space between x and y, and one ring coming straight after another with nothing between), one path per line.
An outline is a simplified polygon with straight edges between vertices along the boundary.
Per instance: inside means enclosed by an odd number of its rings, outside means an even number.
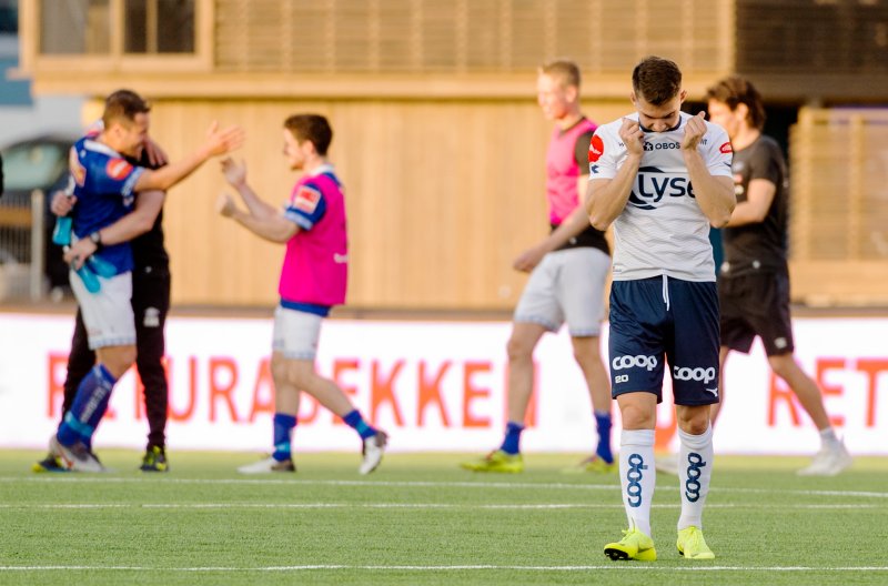
M0 572L175 572L175 573L196 573L196 572L311 572L311 570L340 570L359 569L371 572L462 572L466 569L491 569L491 570L519 570L519 572L589 572L589 570L612 570L612 572L647 572L647 573L669 573L669 572L888 572L888 566L678 566L665 567L653 564L629 565L625 563L614 563L608 565L595 566L498 566L493 564L476 565L453 565L453 566L361 566L346 564L313 564L301 566L266 566L266 567L149 567L149 566L0 566Z

